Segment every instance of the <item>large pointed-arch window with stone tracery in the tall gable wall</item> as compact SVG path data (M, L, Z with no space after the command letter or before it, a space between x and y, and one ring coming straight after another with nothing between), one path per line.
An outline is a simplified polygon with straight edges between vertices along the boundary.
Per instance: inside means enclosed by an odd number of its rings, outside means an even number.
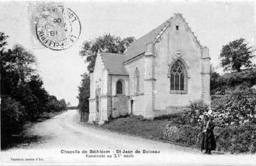
M171 93L187 93L187 71L180 60L169 69Z

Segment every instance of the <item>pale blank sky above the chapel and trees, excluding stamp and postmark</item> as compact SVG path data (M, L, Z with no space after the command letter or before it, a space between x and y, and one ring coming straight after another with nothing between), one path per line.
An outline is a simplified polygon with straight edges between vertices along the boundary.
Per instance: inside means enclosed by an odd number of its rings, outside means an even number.
M33 2L35 3L35 2ZM202 46L210 48L216 71L223 45L243 37L256 48L255 1L64 1L80 19L78 41L67 50L35 48L31 41L27 1L0 0L0 31L9 36L8 47L22 44L37 57L44 88L58 99L78 104L78 86L87 72L79 50L85 40L105 33L119 37L142 37L173 16L182 13ZM256 59L253 59L256 63Z

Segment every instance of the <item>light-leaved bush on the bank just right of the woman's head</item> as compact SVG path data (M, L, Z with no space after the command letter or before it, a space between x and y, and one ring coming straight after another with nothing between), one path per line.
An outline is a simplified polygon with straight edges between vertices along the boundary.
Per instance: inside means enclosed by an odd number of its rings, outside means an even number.
M216 125L256 124L256 93L252 90L237 91L212 101Z

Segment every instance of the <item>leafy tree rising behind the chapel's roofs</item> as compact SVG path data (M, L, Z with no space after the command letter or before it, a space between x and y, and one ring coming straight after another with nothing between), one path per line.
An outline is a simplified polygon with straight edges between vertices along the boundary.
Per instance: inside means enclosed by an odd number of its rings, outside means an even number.
M79 54L86 57L86 62L89 62L87 70L93 71L98 51L123 54L134 40L135 37L121 39L121 37L106 34L94 40L85 41Z

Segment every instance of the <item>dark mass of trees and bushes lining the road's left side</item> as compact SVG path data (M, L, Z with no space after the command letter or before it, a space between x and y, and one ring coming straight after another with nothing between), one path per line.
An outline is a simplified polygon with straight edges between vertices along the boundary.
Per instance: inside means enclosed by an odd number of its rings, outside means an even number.
M6 38L0 33L2 140L22 131L26 121L38 120L46 112L67 109L64 99L57 100L44 89L33 53L20 45L5 50Z

